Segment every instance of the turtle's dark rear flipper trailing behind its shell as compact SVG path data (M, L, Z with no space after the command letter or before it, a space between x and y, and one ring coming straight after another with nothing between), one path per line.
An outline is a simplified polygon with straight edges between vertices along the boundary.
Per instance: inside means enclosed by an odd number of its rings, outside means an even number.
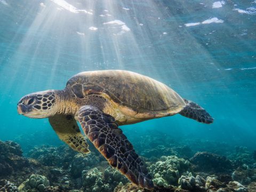
M187 106L182 111L180 111L180 115L183 115L191 119L195 119L196 121L201 123L213 123L213 118L209 113L207 113L207 111L204 108L200 107L193 101L189 101L187 99L183 100L185 101Z

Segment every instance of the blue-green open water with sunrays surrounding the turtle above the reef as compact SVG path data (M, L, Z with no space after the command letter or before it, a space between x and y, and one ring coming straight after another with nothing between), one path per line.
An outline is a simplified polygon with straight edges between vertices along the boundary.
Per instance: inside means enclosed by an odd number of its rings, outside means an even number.
M124 69L214 117L211 125L175 115L121 127L131 140L161 132L255 149L256 2L214 2L1 0L0 140L60 145L47 119L17 114L18 100L63 89L81 71Z

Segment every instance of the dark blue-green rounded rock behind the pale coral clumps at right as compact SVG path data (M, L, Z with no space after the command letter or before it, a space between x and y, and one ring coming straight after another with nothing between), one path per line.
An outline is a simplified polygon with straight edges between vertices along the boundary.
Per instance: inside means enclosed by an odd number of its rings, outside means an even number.
M208 152L196 153L190 158L190 162L195 165L195 171L202 172L230 172L230 169L233 168L231 161L227 157Z

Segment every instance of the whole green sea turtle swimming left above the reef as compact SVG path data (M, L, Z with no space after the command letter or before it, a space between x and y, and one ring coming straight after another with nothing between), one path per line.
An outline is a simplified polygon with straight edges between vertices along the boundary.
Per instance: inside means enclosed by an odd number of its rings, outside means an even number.
M31 118L49 117L59 138L71 148L89 153L79 130L133 183L154 187L151 177L119 125L181 114L212 123L202 107L182 99L170 87L150 77L124 70L86 71L71 77L64 90L35 92L21 98L18 113Z

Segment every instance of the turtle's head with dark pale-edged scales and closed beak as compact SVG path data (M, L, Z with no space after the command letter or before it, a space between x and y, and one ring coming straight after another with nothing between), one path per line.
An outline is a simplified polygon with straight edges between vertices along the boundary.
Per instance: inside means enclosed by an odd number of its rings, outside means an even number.
M46 90L25 95L18 102L17 110L30 118L46 118L55 114L56 98L54 90Z

